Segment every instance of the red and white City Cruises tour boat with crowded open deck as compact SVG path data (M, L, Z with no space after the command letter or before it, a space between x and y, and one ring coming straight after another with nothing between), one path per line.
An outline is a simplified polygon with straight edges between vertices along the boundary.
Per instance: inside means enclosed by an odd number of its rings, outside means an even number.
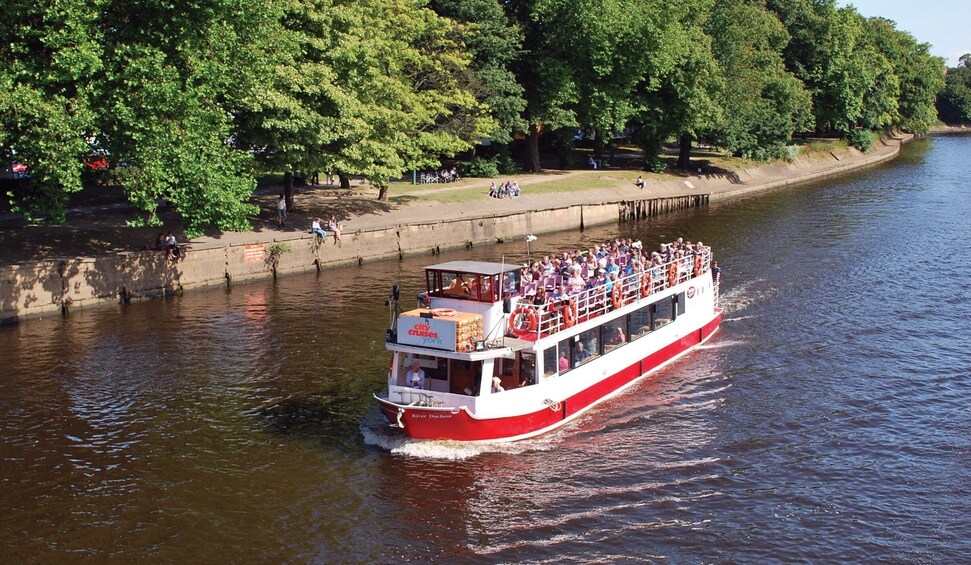
M626 251L609 262L616 278L579 292L562 275L530 281L519 265L480 261L426 267L415 310L399 311L395 287L388 391L375 395L388 421L417 439L536 436L710 338L722 319L711 249Z

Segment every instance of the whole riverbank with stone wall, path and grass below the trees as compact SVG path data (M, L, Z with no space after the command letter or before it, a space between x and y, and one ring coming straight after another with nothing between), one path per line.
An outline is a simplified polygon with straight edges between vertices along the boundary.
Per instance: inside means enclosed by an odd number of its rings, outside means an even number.
M0 321L394 256L433 255L448 247L704 206L876 165L894 158L909 139L884 139L866 154L847 149L738 171L702 169L674 178L645 175L648 186L643 190L634 186L638 171L622 169L517 179L523 195L505 199L484 194L489 179L417 185L397 194L393 203L377 202L369 188L307 190L299 196L291 227L283 231L273 227L274 195L267 193L257 199L263 214L255 219L253 231L194 239L186 257L176 262L163 253L137 250L141 242L154 239L154 230L124 228L109 218L110 210L94 209L89 217L60 228L5 230ZM558 191L550 191L551 181L559 183ZM450 191L462 191L463 198L448 198ZM333 238L321 244L306 233L307 218L328 217L329 209L341 210L344 218L339 246ZM101 252L65 253L77 249L78 242L101 245Z

